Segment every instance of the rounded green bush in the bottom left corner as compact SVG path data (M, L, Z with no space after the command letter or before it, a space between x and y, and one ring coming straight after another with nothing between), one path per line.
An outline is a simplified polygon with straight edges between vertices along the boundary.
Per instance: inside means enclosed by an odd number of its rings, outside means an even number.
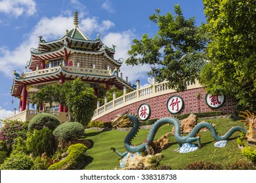
M26 154L11 154L1 165L2 170L30 170L33 160Z

